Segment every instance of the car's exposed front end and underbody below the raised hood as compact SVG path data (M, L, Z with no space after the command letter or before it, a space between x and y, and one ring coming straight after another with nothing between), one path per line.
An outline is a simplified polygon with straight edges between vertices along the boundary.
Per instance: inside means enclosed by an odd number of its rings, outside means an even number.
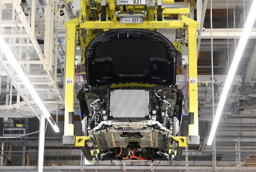
M183 95L180 90L155 89L157 88L107 89L107 94L104 95L103 91L99 99L95 99L95 96L100 90L97 90L97 93L94 91L85 93L86 106L92 107L92 111L84 117L83 131L85 136L92 138L93 145L100 149L101 160L125 160L125 157L133 155L142 157L142 160L169 160L169 145L173 145L174 141L172 136L176 136L179 132L179 118L181 118L179 107L183 103L183 97L180 96ZM120 98L126 96L125 100L129 99L131 102L133 99L148 101L144 103L144 107L143 103L136 105L133 104L134 102L127 107L118 96L111 94L115 92L118 92ZM119 101L119 104L111 106L115 101ZM110 112L112 108L121 112L107 115L108 107ZM138 113L137 117L127 117L128 112L132 114L132 111L142 111L143 108L146 109L147 115ZM88 110L90 111L91 108Z

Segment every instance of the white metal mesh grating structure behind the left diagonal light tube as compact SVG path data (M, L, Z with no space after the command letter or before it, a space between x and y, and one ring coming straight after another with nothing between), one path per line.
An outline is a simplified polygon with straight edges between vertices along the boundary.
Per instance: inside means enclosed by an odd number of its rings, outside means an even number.
M36 38L31 36L30 23L28 22L18 1L1 0L0 34L4 37L5 42L8 44L15 58L20 63L21 68L27 75L28 80L34 86L37 94L44 101L46 108L48 108L48 110L54 110L54 108L56 108L57 101L62 102L63 100L59 87L56 82L54 82L53 70L48 70L46 68L47 65L52 66L52 64L47 64L45 62L45 57L36 41ZM20 90L22 95L30 104L32 104L36 111L38 107L34 105L35 102L32 96L28 93L24 84L14 72L11 64L3 54L1 47L0 61L4 65L4 68L8 70L7 73L12 75L12 84L16 85L16 88ZM0 68L0 73L2 76L7 75L4 74L5 71L3 71L2 68ZM40 113L40 111L37 112ZM22 116L22 114L26 114L29 117L34 116L28 107L20 107L20 109L15 109L12 112L12 115L13 113L16 113L16 116ZM0 112L0 116L3 117L6 115L10 116L10 112Z

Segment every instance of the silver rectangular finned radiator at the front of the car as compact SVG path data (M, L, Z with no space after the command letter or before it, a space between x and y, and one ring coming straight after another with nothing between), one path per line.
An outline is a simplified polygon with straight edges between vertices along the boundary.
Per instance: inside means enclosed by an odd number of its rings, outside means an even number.
M148 115L149 91L113 90L110 92L110 116L144 118Z

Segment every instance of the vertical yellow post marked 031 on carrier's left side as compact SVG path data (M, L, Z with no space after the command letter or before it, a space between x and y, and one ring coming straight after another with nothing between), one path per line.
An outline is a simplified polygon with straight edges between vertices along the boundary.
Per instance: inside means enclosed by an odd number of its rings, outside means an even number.
M77 19L65 23L67 28L66 77L65 77L65 116L63 145L75 145L74 136L74 94L75 82L75 48Z

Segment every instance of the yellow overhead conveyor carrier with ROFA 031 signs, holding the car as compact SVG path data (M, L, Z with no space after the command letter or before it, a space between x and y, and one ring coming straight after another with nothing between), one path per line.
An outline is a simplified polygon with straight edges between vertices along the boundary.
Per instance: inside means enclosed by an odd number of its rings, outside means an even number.
M88 44L99 33L113 29L148 29L156 31L159 28L182 29L184 40L174 42L177 51L182 52L183 47L188 47L184 68L188 68L188 98L189 98L189 124L188 136L173 137L178 143L176 160L181 159L183 147L199 145L198 135L198 101L197 101L197 52L196 52L196 29L199 23L189 18L189 6L182 8L167 8L165 4L172 4L174 0L81 0L79 17L69 20L64 25L67 29L66 50L66 85L65 85L65 126L63 145L78 144L74 131L74 84L76 65L80 67L80 73L85 74L85 50ZM97 11L97 17L94 12ZM184 48L185 49L185 48ZM77 61L77 51L80 59ZM78 62L78 64L77 64ZM76 63L76 64L75 64ZM170 150L172 145L170 145ZM83 151L84 152L84 151ZM89 153L89 150L87 150Z

